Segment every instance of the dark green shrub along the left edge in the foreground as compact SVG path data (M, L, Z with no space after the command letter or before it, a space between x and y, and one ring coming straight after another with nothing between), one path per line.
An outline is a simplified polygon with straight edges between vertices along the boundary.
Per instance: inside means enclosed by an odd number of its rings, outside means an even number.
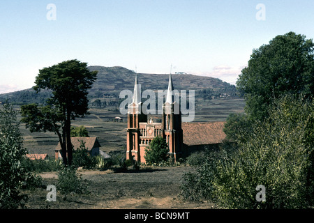
M17 112L6 104L0 110L0 208L24 208L27 202L27 195L20 193L33 180L33 175L21 165L26 153Z

